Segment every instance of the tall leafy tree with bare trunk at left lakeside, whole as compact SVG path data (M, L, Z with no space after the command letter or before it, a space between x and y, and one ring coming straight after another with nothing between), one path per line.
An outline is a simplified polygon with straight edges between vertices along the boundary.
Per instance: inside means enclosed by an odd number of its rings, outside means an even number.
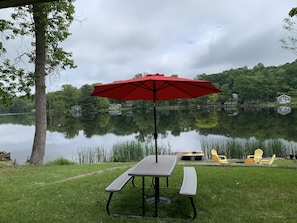
M5 35L7 41L12 42L19 36L26 41L33 37L31 45L29 43L24 47L28 50L18 52L15 59L5 59L0 66L1 100L5 103L17 93L29 95L32 86L35 86L35 135L31 164L43 163L45 154L46 76L68 67L75 68L72 54L59 46L70 35L68 28L74 20L73 2L61 0L18 7L11 15L11 21L0 22L0 31L11 31ZM3 43L0 43L0 53L5 52Z

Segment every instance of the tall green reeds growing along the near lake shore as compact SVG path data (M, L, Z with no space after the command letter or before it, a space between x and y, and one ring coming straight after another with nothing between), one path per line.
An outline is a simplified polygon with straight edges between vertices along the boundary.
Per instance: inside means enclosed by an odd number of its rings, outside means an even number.
M250 138L244 140L220 138L212 141L201 140L201 148L206 154L206 158L211 158L211 149L216 149L218 153L225 154L228 158L233 159L245 159L247 155L254 154L257 148L264 151L263 157L271 157L276 154L277 157L287 158L290 154L297 154L297 145L283 139L257 140ZM169 144L158 145L158 154L166 155L171 153ZM104 147L80 148L76 160L79 164L133 162L151 154L155 154L154 143L131 140L114 144L109 152Z

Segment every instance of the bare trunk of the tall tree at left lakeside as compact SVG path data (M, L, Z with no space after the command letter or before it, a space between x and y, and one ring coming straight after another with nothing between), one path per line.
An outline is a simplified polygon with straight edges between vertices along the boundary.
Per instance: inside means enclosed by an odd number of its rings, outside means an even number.
M33 5L35 23L36 58L35 58L35 135L30 158L31 164L42 164L46 143L46 92L45 92L45 21L47 15L42 4Z

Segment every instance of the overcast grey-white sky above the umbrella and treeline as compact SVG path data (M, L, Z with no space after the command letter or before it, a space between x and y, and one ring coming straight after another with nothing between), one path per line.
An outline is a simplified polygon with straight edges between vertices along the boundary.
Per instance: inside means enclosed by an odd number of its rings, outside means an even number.
M108 83L137 73L194 78L258 63L295 60L279 39L294 0L76 0L73 35L63 43L78 66L51 78L63 84Z

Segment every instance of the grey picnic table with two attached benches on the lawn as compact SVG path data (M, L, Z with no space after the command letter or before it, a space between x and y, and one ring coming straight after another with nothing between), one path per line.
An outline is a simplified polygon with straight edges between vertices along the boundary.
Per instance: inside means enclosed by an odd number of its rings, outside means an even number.
M132 179L133 187L136 187L134 184L135 177L142 178L142 217L145 216L145 178L153 177L155 180L154 185L154 197L148 198L148 203L155 204L155 217L158 217L158 204L169 204L171 203L170 198L160 196L160 177L166 177L167 188L168 178L171 176L173 170L175 169L177 162L177 157L173 155L160 155L158 156L158 162L155 160L155 156L150 155L142 159L132 168L126 170L123 174L118 176L106 189L106 192L109 192L109 199L106 204L106 211L108 215L111 216L123 216L119 214L112 214L110 212L109 205L114 193L121 191L124 186ZM183 182L179 191L181 196L189 197L192 208L193 208L193 217L196 218L197 211L193 197L196 195L197 189L197 175L194 167L184 167ZM137 216L130 216L137 217ZM175 219L176 220L176 219Z

